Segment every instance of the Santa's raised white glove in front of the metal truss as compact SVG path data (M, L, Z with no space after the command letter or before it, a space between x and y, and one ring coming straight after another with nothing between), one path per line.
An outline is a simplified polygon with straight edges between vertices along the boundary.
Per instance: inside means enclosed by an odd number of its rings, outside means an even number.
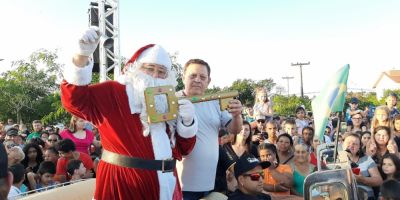
M79 39L79 55L91 56L100 41L100 30L97 26L91 26Z

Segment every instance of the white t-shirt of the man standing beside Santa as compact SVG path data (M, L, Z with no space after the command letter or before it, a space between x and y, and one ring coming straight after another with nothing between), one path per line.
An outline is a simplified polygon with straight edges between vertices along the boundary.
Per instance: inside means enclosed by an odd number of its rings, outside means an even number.
M199 130L193 151L177 162L182 191L203 192L214 189L218 163L218 130L232 119L227 111L220 110L218 101L193 104Z

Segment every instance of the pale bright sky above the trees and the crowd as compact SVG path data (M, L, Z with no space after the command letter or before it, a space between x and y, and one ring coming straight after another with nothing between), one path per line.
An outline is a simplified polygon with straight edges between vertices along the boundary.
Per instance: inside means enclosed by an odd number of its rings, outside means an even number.
M1 0L1 71L39 48L60 49L70 60L76 38L87 28L87 0ZM371 89L380 72L399 68L400 1L120 1L121 55L158 43L178 52L184 64L202 58L211 85L238 78L293 76L290 93L316 92L350 64L349 88Z

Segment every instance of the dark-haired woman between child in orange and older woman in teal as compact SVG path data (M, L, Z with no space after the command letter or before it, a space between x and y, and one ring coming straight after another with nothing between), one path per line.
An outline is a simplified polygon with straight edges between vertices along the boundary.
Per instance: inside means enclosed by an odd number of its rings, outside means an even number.
M294 157L292 137L287 133L283 133L278 136L276 141L279 164L289 164Z

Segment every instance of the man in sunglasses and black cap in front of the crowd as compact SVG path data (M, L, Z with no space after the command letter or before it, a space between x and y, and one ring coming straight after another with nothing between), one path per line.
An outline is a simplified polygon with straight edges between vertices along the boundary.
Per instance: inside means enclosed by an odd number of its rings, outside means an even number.
M228 200L268 200L271 196L263 192L263 169L268 168L270 162L260 162L250 154L243 154L235 164L235 177L238 189Z

